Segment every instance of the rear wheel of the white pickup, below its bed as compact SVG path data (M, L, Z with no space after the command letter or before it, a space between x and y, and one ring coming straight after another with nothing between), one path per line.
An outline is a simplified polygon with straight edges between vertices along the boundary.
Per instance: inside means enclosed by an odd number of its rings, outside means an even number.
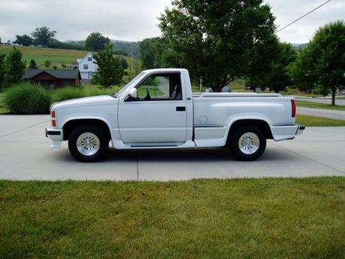
M260 128L242 126L231 135L230 148L238 160L253 161L264 153L266 137Z

